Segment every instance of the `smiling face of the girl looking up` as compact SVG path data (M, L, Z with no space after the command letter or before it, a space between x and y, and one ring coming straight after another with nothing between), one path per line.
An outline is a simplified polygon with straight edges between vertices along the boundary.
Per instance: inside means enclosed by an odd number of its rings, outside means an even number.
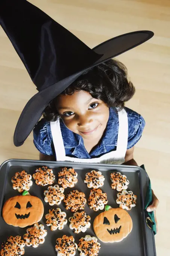
M65 126L73 133L87 140L102 137L109 119L109 108L103 101L81 90L73 95L60 94L55 105Z

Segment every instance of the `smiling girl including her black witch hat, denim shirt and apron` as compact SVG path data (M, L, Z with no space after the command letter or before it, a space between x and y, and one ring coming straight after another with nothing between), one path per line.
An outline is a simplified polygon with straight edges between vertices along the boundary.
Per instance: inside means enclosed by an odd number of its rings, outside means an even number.
M35 126L40 159L137 165L134 145L145 122L124 108L135 92L126 68L106 59L144 43L153 32L130 32L90 49L29 1L3 0L0 11L0 24L38 90L20 115L15 146L24 143L46 104L88 70L47 105L44 119ZM148 209L157 204L153 194Z

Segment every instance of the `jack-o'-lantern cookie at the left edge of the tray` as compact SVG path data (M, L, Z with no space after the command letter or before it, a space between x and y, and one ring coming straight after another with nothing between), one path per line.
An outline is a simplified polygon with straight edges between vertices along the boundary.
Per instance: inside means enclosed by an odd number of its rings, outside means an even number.
M3 206L2 215L5 222L15 227L27 227L41 220L44 206L38 197L22 195L9 198Z

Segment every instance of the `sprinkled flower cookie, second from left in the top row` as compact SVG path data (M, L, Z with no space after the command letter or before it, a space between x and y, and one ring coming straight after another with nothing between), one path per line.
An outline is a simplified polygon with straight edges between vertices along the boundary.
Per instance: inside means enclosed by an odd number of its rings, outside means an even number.
M49 169L47 166L36 169L35 174L33 174L32 177L34 178L35 183L40 186L52 185L55 180L53 170Z

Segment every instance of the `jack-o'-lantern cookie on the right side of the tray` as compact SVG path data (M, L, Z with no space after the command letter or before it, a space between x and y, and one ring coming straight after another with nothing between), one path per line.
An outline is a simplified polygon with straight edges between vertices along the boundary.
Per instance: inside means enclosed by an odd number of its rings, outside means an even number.
M93 228L102 242L120 242L131 232L132 219L125 210L106 206L94 219Z

